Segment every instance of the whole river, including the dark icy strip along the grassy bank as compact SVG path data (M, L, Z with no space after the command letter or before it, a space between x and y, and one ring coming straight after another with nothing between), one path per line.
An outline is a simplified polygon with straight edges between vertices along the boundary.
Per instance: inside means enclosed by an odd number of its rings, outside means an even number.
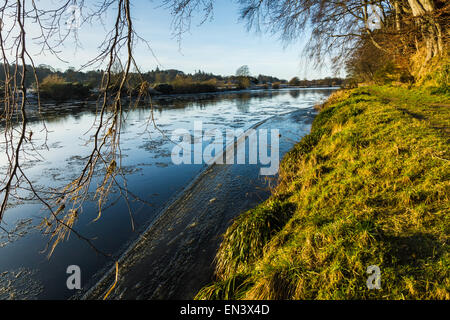
M201 99L160 99L154 104L158 129L147 126L148 106L129 110L121 135L122 166L127 172L128 189L145 201L131 203L135 231L131 228L126 203L117 194L112 195L110 206L95 222L95 202L88 201L74 227L84 237L94 239L92 243L101 251L113 256L105 258L98 255L85 241L72 234L48 259L43 250L49 239L35 228L48 213L35 201L13 202L5 213L2 226L12 230L19 225L21 234L8 239L0 231L0 299L67 299L76 293L66 286L69 265L80 267L85 292L107 274L116 259L122 256L123 260L127 255L133 257L134 263L124 267L124 275L152 268L153 274L149 273L152 284L146 283L145 279L124 278L129 286L139 284L146 289L137 290L136 287L130 294L126 290L129 287L124 285L122 294L117 293L116 298L192 297L199 286L208 282L212 272L210 260L219 243L218 235L234 216L269 196L273 177L269 177L271 180L261 176L258 165L176 165L171 158L174 144L167 137L176 129L193 131L194 122L198 121L205 131L218 129L222 132L227 129L246 130L259 124L256 128L280 131L279 151L282 157L309 132L316 114L313 106L333 90L282 89L210 94ZM29 158L23 165L36 185L58 187L74 177L83 165L83 157L89 153L86 140L92 133L95 109L83 103L48 105L45 108L48 133L42 131L42 123L38 119L30 123L33 141L40 146L38 151L42 158ZM5 170L6 161L2 151L1 170ZM204 210L199 210L201 207ZM220 217L213 219L212 213L217 213L216 216L220 213ZM189 232L183 232L187 230L185 224L196 228L189 227ZM205 245L205 242L210 245ZM158 243L164 243L164 247ZM170 250L167 249L168 244ZM153 253L133 253L142 246L151 247ZM188 251L189 255L180 256L180 253ZM199 259L198 253L203 258ZM145 259L153 262L142 262ZM178 269L181 264L187 266ZM161 271L167 270L168 266L176 269L169 274L177 276L171 277ZM196 280L181 283L180 279L189 273ZM198 277L198 274L204 276ZM106 286L108 277L104 280L103 285ZM177 288L177 284L183 288ZM91 293L90 297L100 298L102 292Z

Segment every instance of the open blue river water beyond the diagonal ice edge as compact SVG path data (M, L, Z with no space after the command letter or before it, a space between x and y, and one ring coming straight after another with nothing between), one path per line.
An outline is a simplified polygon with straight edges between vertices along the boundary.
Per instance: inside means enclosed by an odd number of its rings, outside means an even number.
M148 230L163 209L207 168L206 164L175 165L172 162L174 144L167 137L174 130L192 132L196 121L202 122L203 130L245 130L266 119L277 119L267 121L266 128L279 129L282 133L282 157L307 134L315 114L313 105L323 101L333 90L282 89L158 100L154 104L158 129L147 126L149 107L130 110L121 136L122 166L127 172L128 189L145 201L131 203L135 231L131 228L126 202L117 194L112 195L110 206L95 222L95 202L88 201L74 228L84 237L92 238L92 243L99 250L111 253L113 257L98 255L85 241L72 234L69 240L57 246L48 259L45 252L48 236L35 228L48 213L37 202L14 201L5 213L2 226L8 230L19 227L20 236L8 238L0 231L0 299L67 299L74 294L66 286L69 265L80 267L84 289L98 280L105 266ZM23 166L36 185L60 187L80 170L83 157L89 153L90 145L86 144L86 140L92 134L94 111L92 106L82 103L49 105L44 112L48 133L45 134L42 123L37 119L30 124L34 132L33 142L38 146L41 158L28 158ZM285 114L295 117L280 117ZM288 122L289 125L283 125ZM2 151L1 170L5 170L6 161ZM245 174L246 171L242 172ZM254 187L248 184L245 205L236 204L237 208L245 210L269 195L268 190L261 186L267 185L270 180L267 182L257 174L252 179L260 182L255 183ZM226 223L218 230L224 230Z

